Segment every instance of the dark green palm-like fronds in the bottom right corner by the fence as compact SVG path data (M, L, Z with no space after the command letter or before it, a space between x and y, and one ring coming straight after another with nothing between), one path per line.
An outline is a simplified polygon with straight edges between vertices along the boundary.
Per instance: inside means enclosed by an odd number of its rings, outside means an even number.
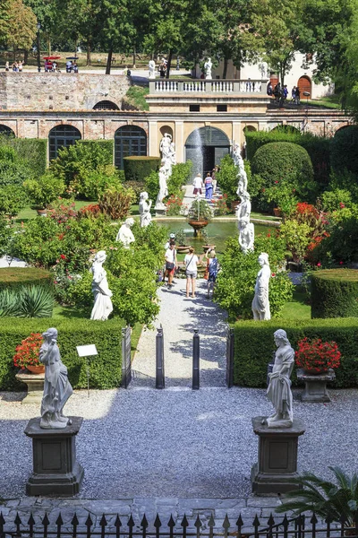
M286 493L287 502L276 508L279 513L293 510L294 514L305 511L317 516L329 517L331 521L343 521L353 526L358 506L358 475L348 476L339 467L328 467L336 477L328 482L313 473L303 473L294 482L303 490Z

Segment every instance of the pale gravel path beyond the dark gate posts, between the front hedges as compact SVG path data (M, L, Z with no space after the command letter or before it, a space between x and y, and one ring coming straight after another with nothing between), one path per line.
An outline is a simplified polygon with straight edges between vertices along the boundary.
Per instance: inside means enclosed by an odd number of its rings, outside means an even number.
M153 329L145 329L132 363L131 386L155 386L156 334L162 325L166 387L192 386L192 336L200 334L200 386L225 386L226 314L206 299L207 282L197 281L195 299L185 297L185 279L175 278L172 290L158 290L160 312Z

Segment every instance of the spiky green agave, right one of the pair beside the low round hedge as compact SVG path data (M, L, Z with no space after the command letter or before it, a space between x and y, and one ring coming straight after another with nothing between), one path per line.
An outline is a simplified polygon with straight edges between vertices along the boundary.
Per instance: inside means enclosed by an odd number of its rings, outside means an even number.
M19 296L18 317L51 317L54 296L43 286L22 288Z

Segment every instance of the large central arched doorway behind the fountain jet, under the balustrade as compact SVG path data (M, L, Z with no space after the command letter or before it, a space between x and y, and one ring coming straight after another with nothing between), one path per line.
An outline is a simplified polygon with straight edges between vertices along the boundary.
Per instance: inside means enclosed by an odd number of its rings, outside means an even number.
M185 143L185 161L192 161L194 174L211 171L230 152L230 141L217 127L200 127L189 134Z

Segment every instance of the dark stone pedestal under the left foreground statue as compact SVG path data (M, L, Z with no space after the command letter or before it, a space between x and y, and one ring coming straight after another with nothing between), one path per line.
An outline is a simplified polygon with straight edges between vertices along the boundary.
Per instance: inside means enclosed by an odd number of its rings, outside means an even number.
M80 491L83 468L76 461L76 435L82 417L69 417L64 430L44 430L40 417L31 419L25 433L32 438L33 473L26 483L27 495L71 497Z

